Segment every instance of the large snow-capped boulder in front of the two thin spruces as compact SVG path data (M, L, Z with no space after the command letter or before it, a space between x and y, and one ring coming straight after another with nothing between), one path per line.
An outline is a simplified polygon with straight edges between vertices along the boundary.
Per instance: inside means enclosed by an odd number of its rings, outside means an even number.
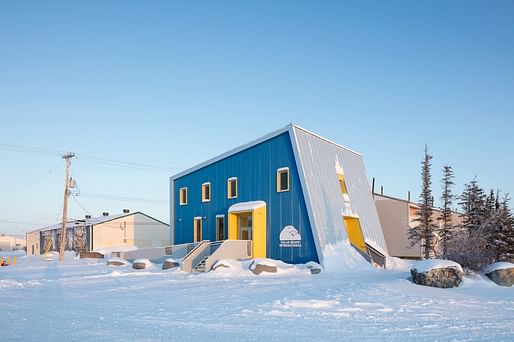
M415 262L410 273L415 284L440 288L458 287L464 276L459 264L439 259Z

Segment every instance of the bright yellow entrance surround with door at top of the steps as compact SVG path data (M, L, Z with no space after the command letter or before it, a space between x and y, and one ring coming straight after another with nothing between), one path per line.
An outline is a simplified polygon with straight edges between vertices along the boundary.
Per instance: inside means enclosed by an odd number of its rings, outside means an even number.
M251 240L252 258L266 258L266 206L228 213L229 240Z

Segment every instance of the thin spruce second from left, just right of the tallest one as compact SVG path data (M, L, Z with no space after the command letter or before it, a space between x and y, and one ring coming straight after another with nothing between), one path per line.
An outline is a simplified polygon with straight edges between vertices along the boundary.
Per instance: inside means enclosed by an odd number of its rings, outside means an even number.
M439 215L439 220L441 222L441 227L438 230L439 238L441 239L442 249L443 249L443 258L448 259L448 245L451 239L451 234L453 231L452 224L452 203L453 203L453 194L452 194L452 186L453 186L453 169L449 165L445 165L443 167L443 193L441 195L441 201L443 203L443 207L441 210L441 214Z

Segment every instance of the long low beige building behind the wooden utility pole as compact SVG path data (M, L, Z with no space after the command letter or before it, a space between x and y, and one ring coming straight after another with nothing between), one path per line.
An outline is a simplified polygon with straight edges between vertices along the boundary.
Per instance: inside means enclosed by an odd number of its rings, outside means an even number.
M163 247L170 244L169 225L141 212L109 215L66 223L66 250L90 252L109 247ZM58 251L62 224L27 233L27 255Z

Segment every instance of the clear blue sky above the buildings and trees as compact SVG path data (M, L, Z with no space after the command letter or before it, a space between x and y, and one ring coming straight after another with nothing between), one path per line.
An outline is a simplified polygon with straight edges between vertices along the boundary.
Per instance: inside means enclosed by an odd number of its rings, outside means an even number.
M1 1L0 118L0 144L78 153L82 193L161 201L78 197L94 216L168 222L169 176L290 122L389 195L417 198L425 143L436 197L444 163L514 195L514 2ZM56 223L62 159L0 157L0 232Z

